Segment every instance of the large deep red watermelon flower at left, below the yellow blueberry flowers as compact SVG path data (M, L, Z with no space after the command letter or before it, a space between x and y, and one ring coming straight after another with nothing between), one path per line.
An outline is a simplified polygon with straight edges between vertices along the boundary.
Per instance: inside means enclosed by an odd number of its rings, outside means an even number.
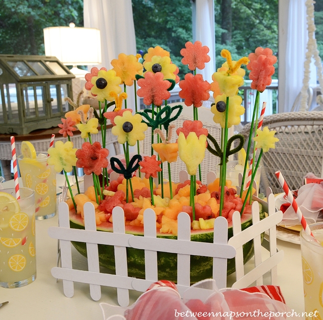
M76 152L78 158L76 166L83 168L85 174L91 174L94 172L99 175L102 172L102 168L108 166L109 150L102 148L99 142L94 142L91 145L89 142L84 142L82 148Z

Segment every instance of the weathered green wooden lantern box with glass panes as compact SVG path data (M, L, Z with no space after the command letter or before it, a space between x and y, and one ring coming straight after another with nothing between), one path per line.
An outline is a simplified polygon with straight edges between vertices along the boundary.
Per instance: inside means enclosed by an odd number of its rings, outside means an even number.
M0 55L0 133L56 127L69 111L73 78L55 57Z

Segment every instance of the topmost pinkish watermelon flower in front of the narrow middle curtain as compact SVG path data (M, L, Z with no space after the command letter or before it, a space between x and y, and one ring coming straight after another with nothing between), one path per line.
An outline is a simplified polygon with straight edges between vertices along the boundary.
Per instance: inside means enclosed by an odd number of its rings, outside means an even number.
M201 41L195 41L194 44L190 41L185 43L185 48L180 50L183 65L188 65L189 70L204 69L205 63L211 58L208 55L210 49L207 46L202 46Z

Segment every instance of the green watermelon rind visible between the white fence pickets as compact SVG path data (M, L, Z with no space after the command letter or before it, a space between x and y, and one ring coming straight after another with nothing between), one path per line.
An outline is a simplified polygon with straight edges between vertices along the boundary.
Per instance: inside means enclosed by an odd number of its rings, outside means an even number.
M264 212L260 212L260 219L264 218ZM112 232L112 224L97 227L98 231ZM242 230L252 225L251 215L242 223ZM70 226L74 229L84 229L80 215L70 214ZM129 228L128 228L129 227ZM126 233L136 236L143 236L143 228L126 226ZM191 241L201 241L213 243L213 232L192 231ZM228 239L233 236L232 227L228 228ZM261 241L263 239L261 237ZM177 239L172 235L158 234L158 238ZM86 257L86 243L72 241L75 248ZM98 244L99 263L101 266L115 273L114 246ZM158 279L177 281L177 254L168 252L158 252ZM246 263L253 256L253 240L243 245L243 263ZM128 276L145 279L145 251L142 249L127 248ZM212 278L213 258L205 256L190 256L190 281L198 282L203 279ZM228 259L227 275L235 272L235 259Z

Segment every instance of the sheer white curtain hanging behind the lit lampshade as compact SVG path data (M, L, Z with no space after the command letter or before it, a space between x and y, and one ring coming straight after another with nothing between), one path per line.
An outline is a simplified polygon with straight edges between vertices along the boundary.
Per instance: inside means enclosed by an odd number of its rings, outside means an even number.
M120 53L136 55L136 36L131 0L84 0L84 27L97 28L101 32L102 64L112 69L112 59ZM86 39L79 50L91 50L91 39ZM91 66L89 66L89 69ZM123 86L122 86L123 87ZM127 106L135 110L134 86L127 87Z

